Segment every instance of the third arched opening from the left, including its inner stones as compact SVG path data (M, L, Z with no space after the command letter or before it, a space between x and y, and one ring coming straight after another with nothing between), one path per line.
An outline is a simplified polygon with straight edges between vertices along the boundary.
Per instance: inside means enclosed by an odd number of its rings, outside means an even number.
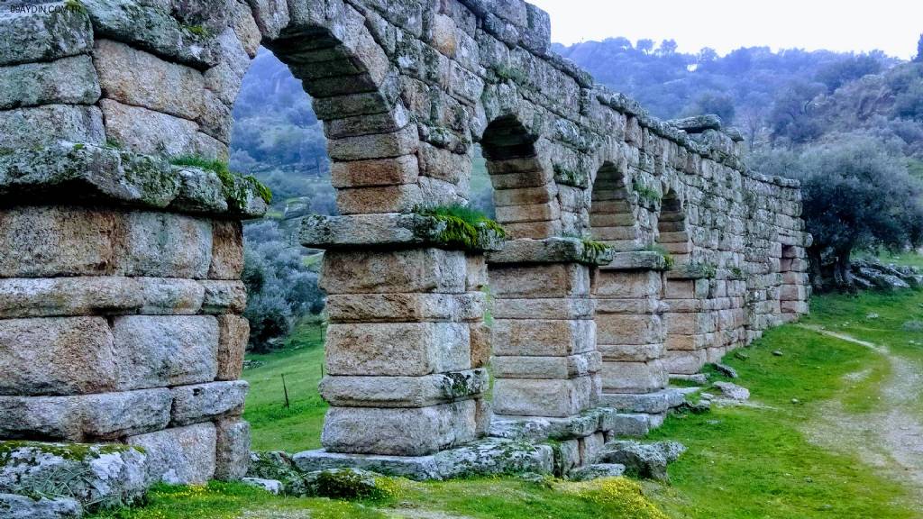
M593 182L590 227L593 239L616 250L641 247L637 218L632 207L625 175L614 163L604 163Z

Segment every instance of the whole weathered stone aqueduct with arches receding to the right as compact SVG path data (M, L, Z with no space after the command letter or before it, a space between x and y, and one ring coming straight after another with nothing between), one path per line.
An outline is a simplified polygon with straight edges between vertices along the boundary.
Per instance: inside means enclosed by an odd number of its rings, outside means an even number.
M342 213L302 231L329 249L310 463L603 416L571 427L589 458L617 419L657 425L669 374L808 310L797 183L751 173L713 118L593 84L520 0L33 5L0 14L0 438L246 472L240 221L265 203L170 158L226 161L259 45L314 100ZM466 202L473 143L509 239L461 247L419 210Z

